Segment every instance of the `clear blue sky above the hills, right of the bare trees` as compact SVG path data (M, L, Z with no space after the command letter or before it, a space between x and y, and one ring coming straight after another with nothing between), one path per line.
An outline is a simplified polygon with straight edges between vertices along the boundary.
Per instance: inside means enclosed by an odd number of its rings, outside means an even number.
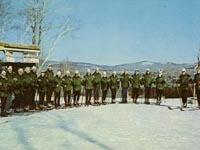
M58 43L51 59L104 65L196 61L199 0L57 0L51 9L58 9L56 18L78 20L78 30Z

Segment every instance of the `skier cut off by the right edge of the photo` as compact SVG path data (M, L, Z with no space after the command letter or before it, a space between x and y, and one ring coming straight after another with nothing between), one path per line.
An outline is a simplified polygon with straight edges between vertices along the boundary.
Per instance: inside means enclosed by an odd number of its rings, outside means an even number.
M197 67L197 73L194 75L193 81L197 94L198 107L200 108L200 67Z

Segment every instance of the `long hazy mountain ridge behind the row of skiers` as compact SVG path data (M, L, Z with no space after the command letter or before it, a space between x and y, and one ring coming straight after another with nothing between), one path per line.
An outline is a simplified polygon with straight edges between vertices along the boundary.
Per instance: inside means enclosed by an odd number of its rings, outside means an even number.
M118 73L122 73L124 70L129 70L131 73L138 69L140 72L144 73L147 68L151 69L152 72L158 72L160 68L163 68L164 73L166 75L177 76L181 73L182 68L186 68L187 72L191 75L195 72L194 64L176 64L173 62L168 63L159 63L159 62L151 62L151 61L141 61L136 63L128 63L128 64L120 64L115 66L108 65L97 65L85 62L62 62L62 61L49 61L48 64L52 64L57 69L65 68L71 71L79 70L81 73L85 73L86 69L90 68L93 72L97 67L101 71L107 71L111 73L112 71L117 71Z

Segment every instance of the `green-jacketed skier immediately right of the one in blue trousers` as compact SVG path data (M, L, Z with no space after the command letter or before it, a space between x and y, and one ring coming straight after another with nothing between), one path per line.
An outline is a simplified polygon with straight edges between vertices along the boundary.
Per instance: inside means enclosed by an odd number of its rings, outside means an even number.
M137 99L140 94L140 86L141 86L141 75L137 69L135 69L133 75L130 78L130 83L132 87L132 99L133 103L137 103Z

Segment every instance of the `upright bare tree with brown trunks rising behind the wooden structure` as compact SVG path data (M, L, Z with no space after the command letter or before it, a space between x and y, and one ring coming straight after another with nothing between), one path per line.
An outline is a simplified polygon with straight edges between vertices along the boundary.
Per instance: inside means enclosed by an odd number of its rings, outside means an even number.
M41 45L42 34L44 31L43 19L46 14L46 5L48 0L29 0L24 1L22 10L18 16L20 23L16 29L21 32L21 38L29 39L31 44Z

